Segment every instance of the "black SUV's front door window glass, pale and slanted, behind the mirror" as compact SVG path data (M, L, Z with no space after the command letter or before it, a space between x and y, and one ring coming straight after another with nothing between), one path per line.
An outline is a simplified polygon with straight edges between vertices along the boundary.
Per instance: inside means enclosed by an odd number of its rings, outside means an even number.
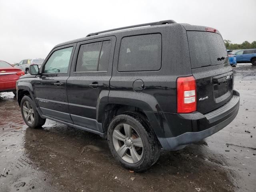
M56 50L44 65L44 73L67 73L73 47Z

